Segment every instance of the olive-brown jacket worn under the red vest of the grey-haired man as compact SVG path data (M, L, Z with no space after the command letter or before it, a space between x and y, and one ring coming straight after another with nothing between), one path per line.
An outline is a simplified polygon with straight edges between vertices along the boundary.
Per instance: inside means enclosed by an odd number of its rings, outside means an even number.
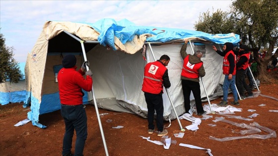
M187 55L189 55L189 63L190 63L190 64L197 64L197 63L202 62L202 61L201 61L201 58L199 58L198 56L188 54L188 53L186 52L186 48L187 48L187 44L184 44L184 45L182 46L182 48L181 48L181 51L180 51L183 60L184 60L184 58L185 58ZM204 69L204 65L203 65L203 64L202 64L201 67L198 69L198 74L199 74L199 77L204 77L204 76L206 75L206 72L205 72L205 69ZM198 78L187 78L187 77L181 76L181 79L183 79L183 80L195 81L195 82L200 82L199 77L198 77Z

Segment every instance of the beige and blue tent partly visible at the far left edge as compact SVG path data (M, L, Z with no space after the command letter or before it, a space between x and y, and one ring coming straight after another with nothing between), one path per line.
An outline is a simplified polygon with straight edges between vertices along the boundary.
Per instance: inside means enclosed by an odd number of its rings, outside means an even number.
M26 100L26 85L25 85L25 62L19 63L19 69L23 74L22 79L18 83L6 81L0 84L0 104L20 103Z

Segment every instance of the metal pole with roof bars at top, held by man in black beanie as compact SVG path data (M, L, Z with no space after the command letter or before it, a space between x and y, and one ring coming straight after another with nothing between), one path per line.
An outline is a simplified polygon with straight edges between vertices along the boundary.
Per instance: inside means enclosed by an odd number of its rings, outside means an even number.
M82 53L83 53L83 57L84 57L84 60L86 61L87 60L87 56L86 56L86 52L85 52L85 48L84 48L84 41L80 40L79 38L77 38L76 36L70 34L69 32L65 31L64 32L68 35L70 35L70 37L74 38L75 40L77 40L78 42L81 43L81 48L82 48ZM95 41L89 41L88 43L98 43L98 42L95 42ZM86 70L88 71L89 70L89 67L86 66ZM106 146L106 142L105 142L105 137L104 137L104 133L103 133L103 129L102 129L102 124L101 124L101 120L100 120L100 116L99 116L99 112L98 112L98 107L97 107L97 103L96 103L96 98L95 98L95 94L94 94L94 88L93 88L93 85L92 85L92 91L91 91L92 95L93 95L93 100L94 100L94 106L95 106L95 110L96 110L96 115L97 115L97 120L98 120L98 124L99 124L99 128L100 128L100 133L101 133L101 137L102 137L102 141L103 141L103 146L104 146L104 149L105 149L105 154L106 156L109 156L108 154L108 150L107 150L107 146Z

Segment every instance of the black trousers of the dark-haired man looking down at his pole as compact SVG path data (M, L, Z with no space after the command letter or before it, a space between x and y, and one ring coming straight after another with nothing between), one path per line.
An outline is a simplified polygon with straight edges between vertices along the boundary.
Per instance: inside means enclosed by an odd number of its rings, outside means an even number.
M148 129L154 129L154 111L156 111L156 127L157 131L163 131L163 99L162 94L144 93L147 103L148 113Z

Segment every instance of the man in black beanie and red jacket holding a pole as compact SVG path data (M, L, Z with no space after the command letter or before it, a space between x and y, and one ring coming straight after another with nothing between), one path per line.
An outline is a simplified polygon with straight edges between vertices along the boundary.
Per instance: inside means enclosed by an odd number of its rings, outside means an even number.
M89 62L85 61L82 67L76 71L76 57L68 54L63 58L63 67L58 73L58 86L61 100L61 115L65 121L66 132L63 140L63 156L73 156L71 143L76 132L74 156L83 156L83 149L87 139L87 115L83 107L82 97L84 93L92 90L92 72L84 72ZM86 79L82 75L86 74Z

